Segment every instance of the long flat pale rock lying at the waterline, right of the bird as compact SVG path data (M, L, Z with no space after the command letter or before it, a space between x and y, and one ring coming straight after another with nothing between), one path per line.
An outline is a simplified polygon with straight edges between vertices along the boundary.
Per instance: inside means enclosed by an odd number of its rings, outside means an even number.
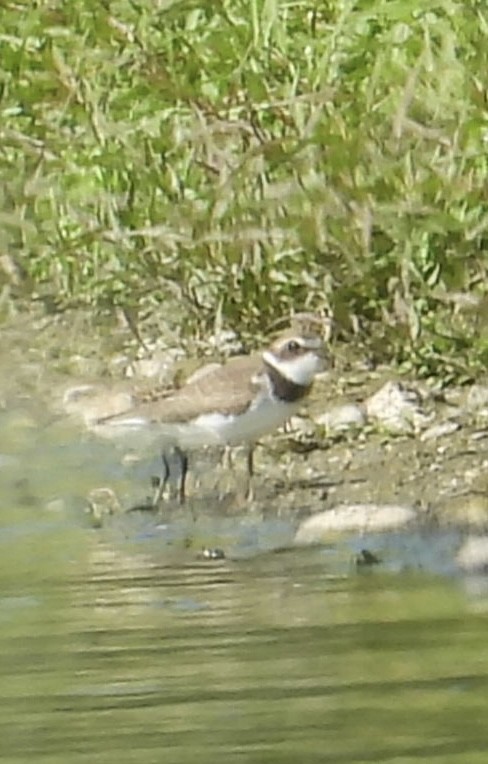
M316 544L334 533L373 533L401 528L416 516L413 507L396 504L340 504L304 520L295 535L295 543Z

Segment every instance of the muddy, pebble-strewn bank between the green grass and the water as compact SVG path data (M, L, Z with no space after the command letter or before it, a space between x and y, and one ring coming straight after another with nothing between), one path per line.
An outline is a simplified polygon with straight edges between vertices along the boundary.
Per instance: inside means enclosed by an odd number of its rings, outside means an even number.
M120 395L157 394L181 385L199 363L220 362L226 352L239 349L230 335L221 345L223 353L218 340L210 338L197 348L174 333L141 345L126 326L94 327L89 317L77 314L4 327L2 472L8 473L13 442L19 441L15 448L21 452L22 443L42 440L45 449L52 449L56 469L56 449L78 441L88 444L82 463L97 460L95 480L104 472L104 448L87 440L75 416L80 411L67 411L67 391L86 386L103 405ZM427 384L392 368L370 369L347 347L334 350L340 360L315 386L303 416L258 448L254 510L295 513L298 519L339 505L397 505L413 510L418 522L484 531L488 387L480 382L441 390L436 380ZM39 427L47 428L42 438ZM88 495L93 489L113 489L124 510L134 498L128 489L134 475L123 477L122 490L120 483L130 458L117 454L111 459L103 483L85 481L83 490ZM119 471L113 466L117 460ZM208 495L216 510L231 511L244 471L239 455L231 469L219 455L205 453L193 461L198 495ZM46 470L49 463L47 456ZM140 491L148 494L148 487Z

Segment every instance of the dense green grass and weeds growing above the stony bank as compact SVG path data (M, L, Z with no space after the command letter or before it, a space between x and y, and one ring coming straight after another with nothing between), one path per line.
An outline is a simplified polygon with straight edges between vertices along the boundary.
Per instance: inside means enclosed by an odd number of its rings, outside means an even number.
M327 309L420 373L486 363L484 0L29 0L0 25L24 294L178 303L191 331Z

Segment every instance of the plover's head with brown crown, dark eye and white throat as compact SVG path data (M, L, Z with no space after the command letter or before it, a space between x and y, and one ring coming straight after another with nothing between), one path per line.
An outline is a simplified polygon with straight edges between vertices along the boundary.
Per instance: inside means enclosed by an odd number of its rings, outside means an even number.
M279 337L264 351L263 361L282 377L301 387L309 387L316 374L332 365L321 337L290 332Z

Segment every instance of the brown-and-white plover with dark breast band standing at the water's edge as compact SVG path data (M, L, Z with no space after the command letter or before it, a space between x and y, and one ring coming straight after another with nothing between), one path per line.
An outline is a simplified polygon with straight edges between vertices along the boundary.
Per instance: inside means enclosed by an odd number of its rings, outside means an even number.
M302 405L317 374L330 365L316 331L288 330L260 352L230 358L203 371L160 399L98 418L96 434L125 440L135 449L159 446L163 474L154 503L170 477L169 448L180 461L179 501L186 499L188 452L204 446L247 446L248 497L254 474L253 448Z

